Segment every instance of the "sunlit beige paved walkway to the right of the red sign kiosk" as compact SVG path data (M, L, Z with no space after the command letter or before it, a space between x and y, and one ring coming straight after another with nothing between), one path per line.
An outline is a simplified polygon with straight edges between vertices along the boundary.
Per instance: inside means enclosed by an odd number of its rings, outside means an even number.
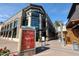
M37 47L39 46L40 44L37 43ZM49 41L46 47L49 49L39 52L34 56L79 56L79 51L73 51L71 46L70 48L67 46L63 47L58 40Z

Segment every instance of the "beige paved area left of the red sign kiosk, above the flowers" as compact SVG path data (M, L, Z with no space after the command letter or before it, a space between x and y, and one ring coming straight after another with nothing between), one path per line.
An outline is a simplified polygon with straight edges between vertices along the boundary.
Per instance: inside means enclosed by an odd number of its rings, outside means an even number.
M7 39L0 39L0 48L4 47L7 47L10 51L17 51L18 42Z

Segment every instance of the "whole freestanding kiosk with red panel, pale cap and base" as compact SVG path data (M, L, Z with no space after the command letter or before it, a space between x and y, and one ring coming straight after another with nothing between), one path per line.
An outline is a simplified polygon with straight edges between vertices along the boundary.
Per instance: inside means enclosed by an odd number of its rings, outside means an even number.
M21 55L35 54L36 31L33 27L22 27Z

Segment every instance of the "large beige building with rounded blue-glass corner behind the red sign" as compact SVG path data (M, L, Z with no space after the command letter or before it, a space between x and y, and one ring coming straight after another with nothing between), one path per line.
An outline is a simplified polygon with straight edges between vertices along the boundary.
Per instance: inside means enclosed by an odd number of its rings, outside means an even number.
M29 4L28 7L6 20L1 26L1 39L19 42L23 27L35 27L37 41L42 37L45 37L46 40L55 37L53 23L43 7L39 5Z

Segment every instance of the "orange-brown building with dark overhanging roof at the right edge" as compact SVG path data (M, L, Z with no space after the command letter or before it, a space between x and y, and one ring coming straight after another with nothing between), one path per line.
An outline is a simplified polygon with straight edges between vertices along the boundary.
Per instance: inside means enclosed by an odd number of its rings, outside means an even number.
M66 42L67 44L72 44L73 42L79 44L79 3L72 4L67 18Z

